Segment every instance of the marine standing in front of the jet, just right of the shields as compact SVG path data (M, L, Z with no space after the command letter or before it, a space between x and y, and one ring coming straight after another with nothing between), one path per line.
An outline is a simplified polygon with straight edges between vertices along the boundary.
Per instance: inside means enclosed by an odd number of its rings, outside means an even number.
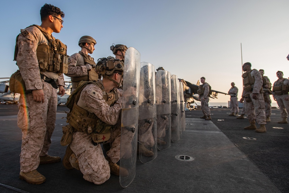
M204 114L204 116L200 118L205 119L205 120L212 120L211 111L209 108L210 85L205 82L206 80L205 77L201 77L200 80L201 80L202 85L199 86L198 94L199 94L199 100L201 100L201 109Z

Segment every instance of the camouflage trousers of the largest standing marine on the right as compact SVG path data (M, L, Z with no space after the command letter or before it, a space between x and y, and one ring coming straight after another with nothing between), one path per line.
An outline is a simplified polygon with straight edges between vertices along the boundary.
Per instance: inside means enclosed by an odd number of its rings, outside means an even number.
M245 102L245 112L249 117L249 120L256 120L259 125L266 124L265 116L265 103L263 98L263 93L257 94L257 99L253 99L253 93L249 92L250 102ZM246 99L245 99L246 100Z

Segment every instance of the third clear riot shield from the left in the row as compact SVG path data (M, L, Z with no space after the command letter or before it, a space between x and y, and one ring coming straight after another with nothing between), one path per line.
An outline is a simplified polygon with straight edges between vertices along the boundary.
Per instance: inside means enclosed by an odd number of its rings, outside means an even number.
M171 73L159 70L155 75L158 149L171 146Z

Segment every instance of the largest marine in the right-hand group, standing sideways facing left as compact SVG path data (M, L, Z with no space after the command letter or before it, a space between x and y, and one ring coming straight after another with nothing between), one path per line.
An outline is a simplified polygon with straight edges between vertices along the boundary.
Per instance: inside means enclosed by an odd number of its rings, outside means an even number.
M249 117L250 126L244 129L255 130L256 132L266 132L265 124L265 103L263 97L263 80L262 75L256 69L251 70L251 63L247 62L243 65L243 93L240 102L246 100L245 111ZM257 129L255 120L260 125Z

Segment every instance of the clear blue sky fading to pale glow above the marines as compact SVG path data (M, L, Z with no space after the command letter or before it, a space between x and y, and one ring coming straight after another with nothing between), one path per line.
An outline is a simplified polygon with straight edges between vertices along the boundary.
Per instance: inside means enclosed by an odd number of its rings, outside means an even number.
M68 55L80 50L81 36L89 35L97 41L91 54L95 60L113 56L112 43L124 44L140 52L141 62L192 84L204 76L213 90L227 93L235 82L239 96L242 61L264 69L272 84L278 70L289 76L288 0L15 0L0 7L0 77L18 69L13 61L16 36L20 29L41 24L45 3L65 13L64 27L52 35L67 45ZM210 102L229 98L218 94Z

